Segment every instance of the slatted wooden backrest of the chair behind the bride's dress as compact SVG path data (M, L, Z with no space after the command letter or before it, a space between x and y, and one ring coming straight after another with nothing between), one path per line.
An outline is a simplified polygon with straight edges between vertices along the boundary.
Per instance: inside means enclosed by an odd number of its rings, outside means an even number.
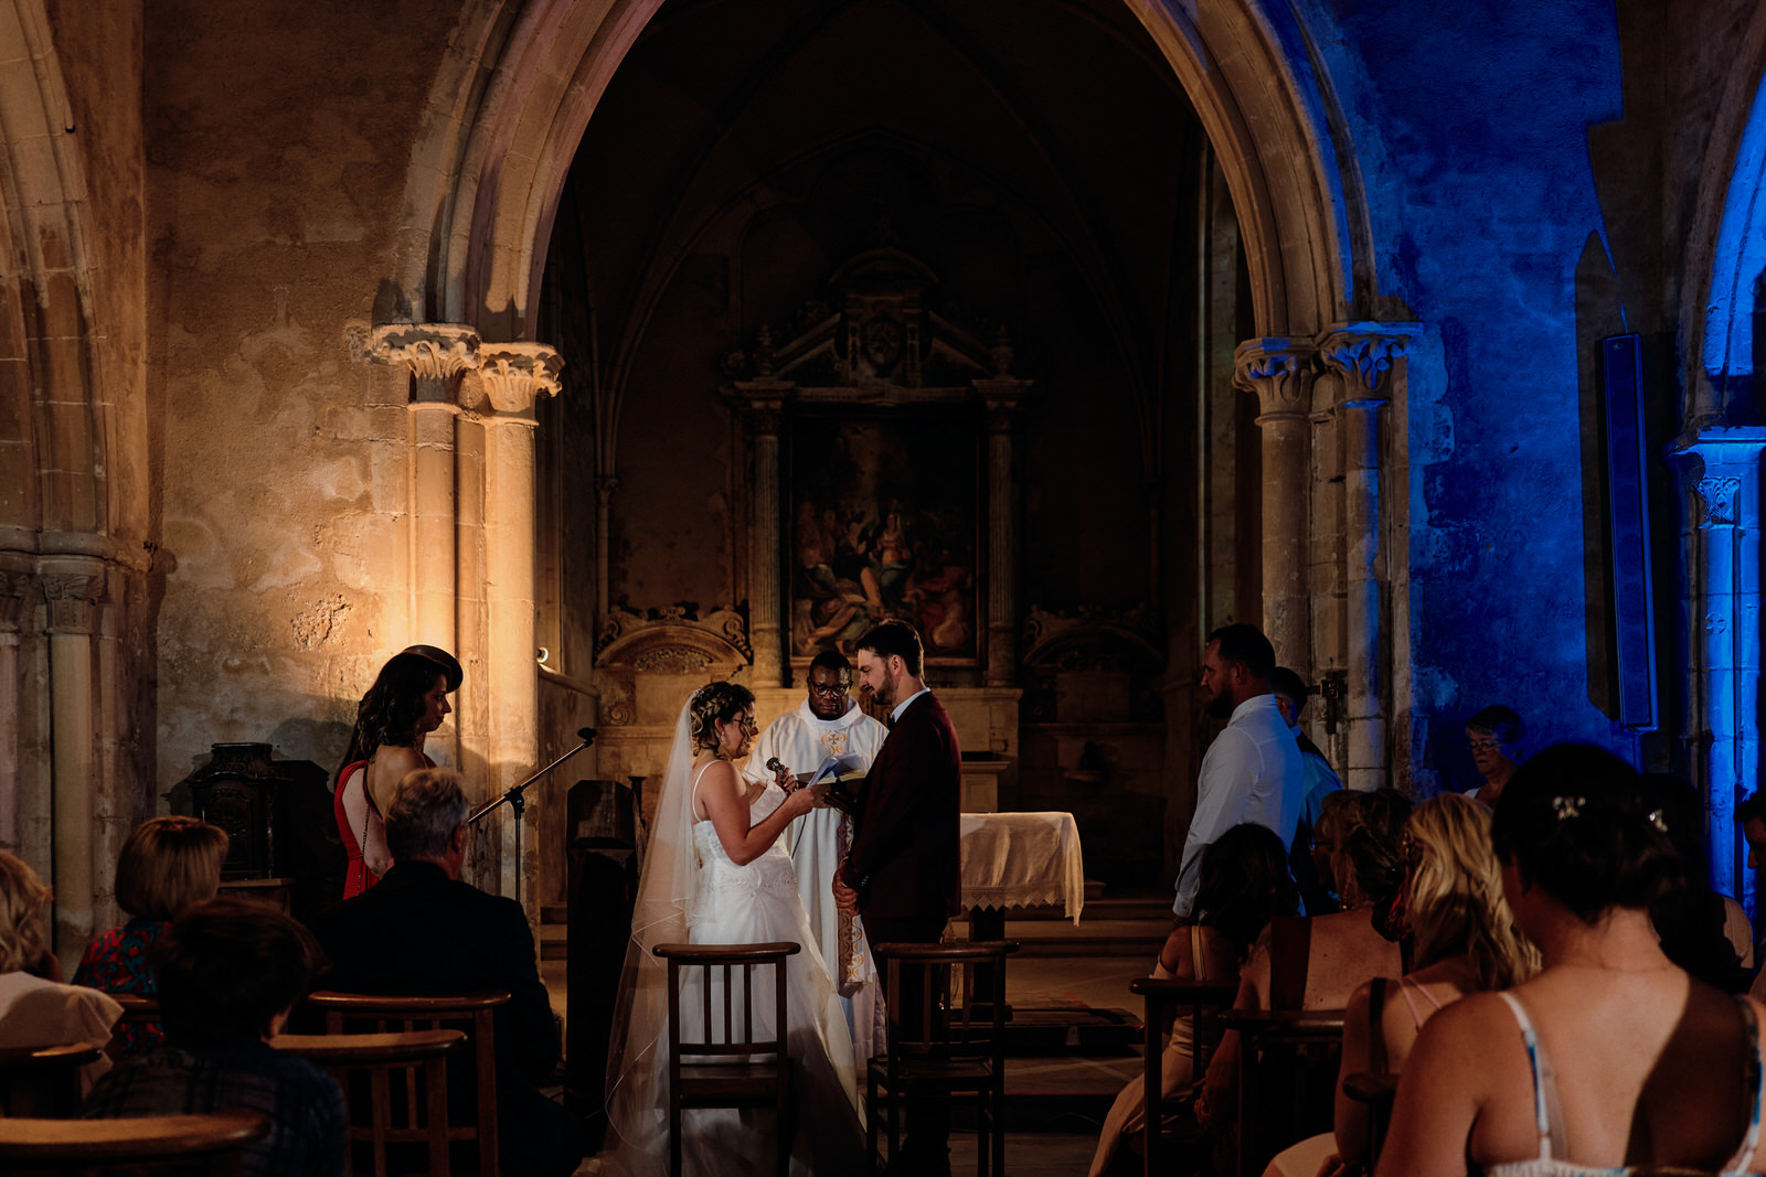
M682 1055L752 1057L786 1055L784 1020L786 956L802 946L779 941L768 944L657 944L657 956L668 962L668 1034L669 1068L680 1068ZM772 965L772 1025L756 1018L754 971ZM692 1008L682 1009L682 971L692 992ZM685 1016L692 1015L692 1016ZM738 1016L740 1015L740 1016ZM698 1034L691 1034L698 1027Z

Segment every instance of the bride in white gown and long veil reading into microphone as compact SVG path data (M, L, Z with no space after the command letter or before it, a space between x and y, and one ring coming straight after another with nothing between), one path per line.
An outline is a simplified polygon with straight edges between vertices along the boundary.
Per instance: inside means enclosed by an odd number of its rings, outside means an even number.
M668 965L650 949L682 941L802 944L786 965L786 1041L796 1064L791 1172L844 1173L864 1165L846 1015L796 895L791 856L779 842L816 798L807 789L786 794L777 783L751 791L733 761L747 753L756 731L754 695L735 683L701 686L675 725L613 1018L611 1133L600 1158L608 1172L668 1173ZM756 972L756 997L772 993L766 971ZM713 995L713 1009L721 1006ZM682 1009L696 1008L698 1001L683 995ZM754 1002L763 1032L772 1029L770 1008ZM682 1136L687 1173L774 1172L770 1112L689 1110Z

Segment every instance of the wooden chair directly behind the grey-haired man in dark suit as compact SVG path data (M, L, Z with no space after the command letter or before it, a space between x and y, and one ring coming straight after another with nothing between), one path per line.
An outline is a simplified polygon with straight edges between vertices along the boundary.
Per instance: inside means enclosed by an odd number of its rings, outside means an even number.
M496 1027L498 1006L509 1004L509 992L450 993L438 997L387 997L380 993L307 995L307 1006L325 1015L328 1034L408 1032L466 1029L472 1041L472 1075L477 1108L472 1124L449 1124L449 1140L477 1140L480 1177L498 1177L496 1159Z

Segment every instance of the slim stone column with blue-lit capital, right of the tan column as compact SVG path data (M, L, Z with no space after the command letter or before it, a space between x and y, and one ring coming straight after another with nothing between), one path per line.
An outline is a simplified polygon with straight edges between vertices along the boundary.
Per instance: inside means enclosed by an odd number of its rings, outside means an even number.
M1404 355L1408 334L1381 323L1355 323L1326 334L1324 364L1342 378L1337 420L1342 432L1344 498L1344 639L1347 669L1349 753L1344 783L1379 789L1392 783L1388 753L1386 563L1381 551L1379 409L1386 376Z

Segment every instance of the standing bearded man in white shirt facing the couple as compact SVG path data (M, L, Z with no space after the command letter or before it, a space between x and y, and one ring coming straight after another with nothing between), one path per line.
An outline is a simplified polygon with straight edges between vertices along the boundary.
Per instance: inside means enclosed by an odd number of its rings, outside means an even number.
M1227 720L1208 745L1196 780L1196 817L1183 840L1178 898L1171 911L1190 916L1201 882L1203 851L1240 822L1268 826L1293 845L1305 792L1300 745L1275 706L1270 676L1275 648L1254 625L1227 625L1208 635L1203 690L1208 713Z

